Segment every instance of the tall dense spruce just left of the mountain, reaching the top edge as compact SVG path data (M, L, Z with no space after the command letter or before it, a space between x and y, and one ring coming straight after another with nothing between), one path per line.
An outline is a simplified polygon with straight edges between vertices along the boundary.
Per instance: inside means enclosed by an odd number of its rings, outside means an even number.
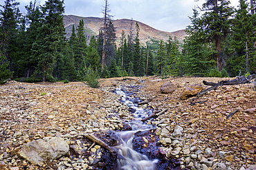
M58 53L58 45L64 41L64 1L48 0L42 6L44 20L37 28L34 50L37 55L37 73L42 74L43 81L53 80L53 68Z

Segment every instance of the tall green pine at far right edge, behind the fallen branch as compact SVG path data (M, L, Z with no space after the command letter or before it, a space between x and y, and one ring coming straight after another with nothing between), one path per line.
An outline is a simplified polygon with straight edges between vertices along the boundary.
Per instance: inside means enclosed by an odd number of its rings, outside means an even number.
M256 14L249 13L248 3L244 0L239 1L239 9L237 10L232 27L232 43L231 47L235 52L228 59L228 67L232 75L241 72L250 72L255 67L255 48L253 44L256 41Z

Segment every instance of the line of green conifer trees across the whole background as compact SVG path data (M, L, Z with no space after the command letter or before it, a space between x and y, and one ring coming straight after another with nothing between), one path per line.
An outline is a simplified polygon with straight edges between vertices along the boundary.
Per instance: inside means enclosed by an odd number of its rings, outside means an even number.
M64 1L31 1L26 14L6 0L0 10L0 82L92 81L118 76L237 76L256 70L256 1L211 0L193 9L183 42L140 43L131 21L116 44L116 30L105 0L103 27L87 39L84 21L65 36ZM134 28L135 24L135 30ZM97 86L97 81L92 81Z

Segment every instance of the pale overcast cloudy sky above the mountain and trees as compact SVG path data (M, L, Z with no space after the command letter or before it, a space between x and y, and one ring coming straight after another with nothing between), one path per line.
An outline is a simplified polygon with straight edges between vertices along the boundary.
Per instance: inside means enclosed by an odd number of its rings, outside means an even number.
M21 12L26 12L31 0L16 0L21 3ZM33 0L34 1L34 0ZM37 0L40 1L40 0ZM113 19L134 19L143 22L157 30L173 32L185 29L190 25L188 16L192 16L192 9L200 6L205 0L108 0L110 14ZM232 6L239 5L238 0L230 0ZM103 17L104 0L64 0L65 14L80 17ZM3 5L3 0L0 2ZM41 0L44 4L44 0Z

